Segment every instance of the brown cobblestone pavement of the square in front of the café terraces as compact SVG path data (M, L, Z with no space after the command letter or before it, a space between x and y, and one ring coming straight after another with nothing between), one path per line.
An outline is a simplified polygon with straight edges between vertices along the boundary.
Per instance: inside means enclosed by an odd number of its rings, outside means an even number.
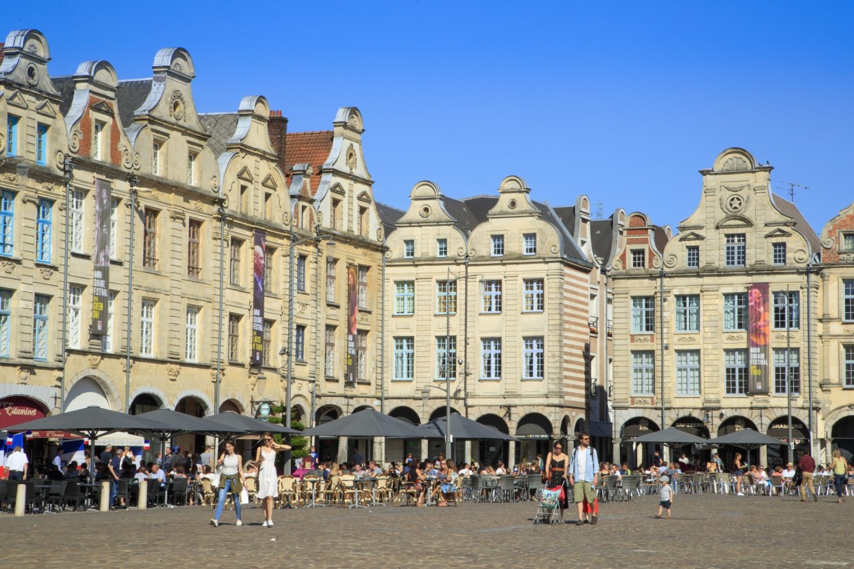
M226 511L214 528L208 508L181 507L2 515L0 534L3 566L101 566L117 551L123 569L190 560L243 568L539 566L544 559L603 569L851 566L851 502L679 495L673 519L656 520L658 499L645 496L603 503L599 524L583 527L533 525L535 502L279 509L269 529L260 525L260 508L244 509L242 527Z

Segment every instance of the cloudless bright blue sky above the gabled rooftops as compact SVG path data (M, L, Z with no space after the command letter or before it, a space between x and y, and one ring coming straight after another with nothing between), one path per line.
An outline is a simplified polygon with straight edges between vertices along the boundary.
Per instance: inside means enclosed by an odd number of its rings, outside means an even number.
M537 200L585 193L605 217L675 227L731 146L769 160L775 187L809 186L795 202L816 231L854 200L852 3L50 4L2 21L44 32L53 75L103 59L149 77L157 49L181 46L201 112L260 94L315 131L360 107L393 206L422 179L464 197L515 174Z

